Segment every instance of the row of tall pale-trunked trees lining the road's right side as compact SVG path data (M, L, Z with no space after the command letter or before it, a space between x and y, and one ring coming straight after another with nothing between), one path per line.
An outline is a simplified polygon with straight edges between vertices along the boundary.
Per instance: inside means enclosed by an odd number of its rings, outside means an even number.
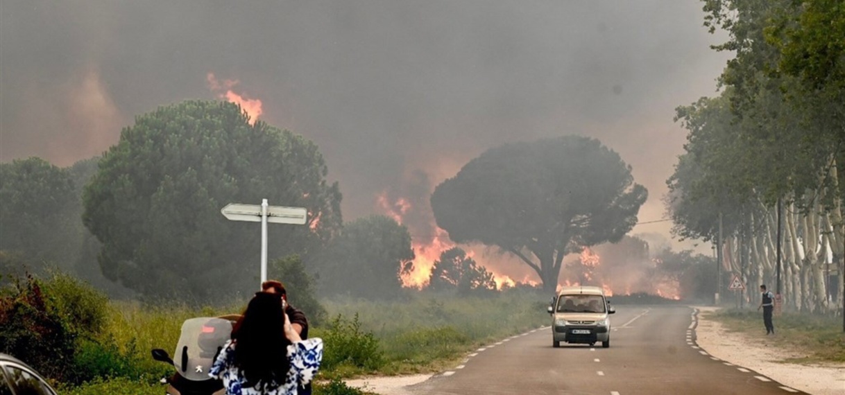
M708 241L721 234L725 268L781 288L788 307L840 311L845 6L705 0L704 10L711 32L728 33L714 49L735 57L720 95L677 110L689 134L667 181L674 230Z

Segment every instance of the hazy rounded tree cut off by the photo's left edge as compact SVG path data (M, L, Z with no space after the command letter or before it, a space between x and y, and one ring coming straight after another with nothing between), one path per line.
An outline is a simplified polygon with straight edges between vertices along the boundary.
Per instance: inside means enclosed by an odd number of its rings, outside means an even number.
M72 270L81 223L74 179L41 158L0 164L0 250Z

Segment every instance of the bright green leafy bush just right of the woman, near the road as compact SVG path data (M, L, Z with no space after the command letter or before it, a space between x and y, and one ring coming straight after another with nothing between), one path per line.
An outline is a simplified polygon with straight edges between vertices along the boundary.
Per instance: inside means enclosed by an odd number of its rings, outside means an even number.
M384 365L384 352L379 340L371 332L363 332L358 315L352 321L337 315L329 327L315 337L323 338L323 363L321 369L333 370L348 365L374 371Z

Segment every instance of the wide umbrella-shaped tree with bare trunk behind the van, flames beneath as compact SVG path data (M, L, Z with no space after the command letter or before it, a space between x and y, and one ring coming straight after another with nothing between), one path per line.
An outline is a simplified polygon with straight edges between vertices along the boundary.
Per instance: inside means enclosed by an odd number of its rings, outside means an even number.
M647 192L630 170L593 138L510 143L441 183L431 205L450 239L499 246L553 291L565 255L619 241L636 224Z

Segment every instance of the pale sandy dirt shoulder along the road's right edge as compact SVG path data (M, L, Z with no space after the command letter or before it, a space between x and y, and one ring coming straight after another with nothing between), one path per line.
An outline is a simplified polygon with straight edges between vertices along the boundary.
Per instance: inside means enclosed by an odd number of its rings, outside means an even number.
M708 314L717 311L717 308L696 308L699 309L696 342L711 355L811 394L841 395L845 392L845 364L803 365L784 362L805 355L779 343L779 335L766 336L762 329L762 318L759 334L730 332Z

